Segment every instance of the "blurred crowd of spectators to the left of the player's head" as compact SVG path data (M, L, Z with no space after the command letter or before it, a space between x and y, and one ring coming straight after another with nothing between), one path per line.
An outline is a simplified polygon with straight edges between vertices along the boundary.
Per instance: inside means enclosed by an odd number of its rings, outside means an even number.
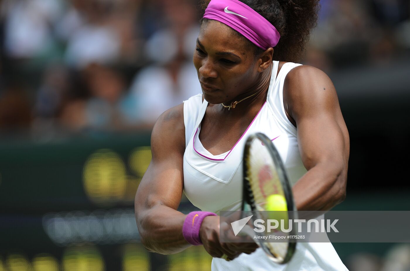
M197 3L2 1L0 128L150 128L199 93Z

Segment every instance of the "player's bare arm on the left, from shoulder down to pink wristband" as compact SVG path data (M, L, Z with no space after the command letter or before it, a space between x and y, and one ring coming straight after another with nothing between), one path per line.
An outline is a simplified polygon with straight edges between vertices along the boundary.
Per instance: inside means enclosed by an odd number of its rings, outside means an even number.
M141 242L152 252L177 253L191 246L182 236L186 215L178 212L185 151L183 104L165 111L151 136L152 160L135 195Z

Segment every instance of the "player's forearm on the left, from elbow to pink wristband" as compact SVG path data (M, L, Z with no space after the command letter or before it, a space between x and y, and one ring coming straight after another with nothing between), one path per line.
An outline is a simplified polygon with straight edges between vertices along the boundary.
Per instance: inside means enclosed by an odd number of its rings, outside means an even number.
M173 254L191 246L182 236L182 226L187 215L157 204L136 213L136 217L141 242L148 251Z

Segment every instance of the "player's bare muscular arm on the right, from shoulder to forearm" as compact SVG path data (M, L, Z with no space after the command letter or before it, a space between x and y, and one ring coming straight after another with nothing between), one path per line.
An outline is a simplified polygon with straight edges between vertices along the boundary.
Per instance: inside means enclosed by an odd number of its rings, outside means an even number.
M349 136L335 87L321 70L299 66L288 73L283 93L308 170L292 189L296 208L330 210L345 198L349 157Z

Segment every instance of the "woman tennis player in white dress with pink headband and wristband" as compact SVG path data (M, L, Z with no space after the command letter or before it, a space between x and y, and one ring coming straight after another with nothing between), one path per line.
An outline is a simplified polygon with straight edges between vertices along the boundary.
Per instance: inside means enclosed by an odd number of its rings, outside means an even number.
M256 244L219 241L219 211L241 206L242 151L251 133L273 140L298 210L329 210L345 197L349 138L335 88L321 70L295 63L318 0L212 0L204 7L193 57L203 93L155 124L152 161L135 198L142 243L161 254L203 245L218 271L347 270L331 243L298 243L280 265ZM201 212L177 211L183 191Z

